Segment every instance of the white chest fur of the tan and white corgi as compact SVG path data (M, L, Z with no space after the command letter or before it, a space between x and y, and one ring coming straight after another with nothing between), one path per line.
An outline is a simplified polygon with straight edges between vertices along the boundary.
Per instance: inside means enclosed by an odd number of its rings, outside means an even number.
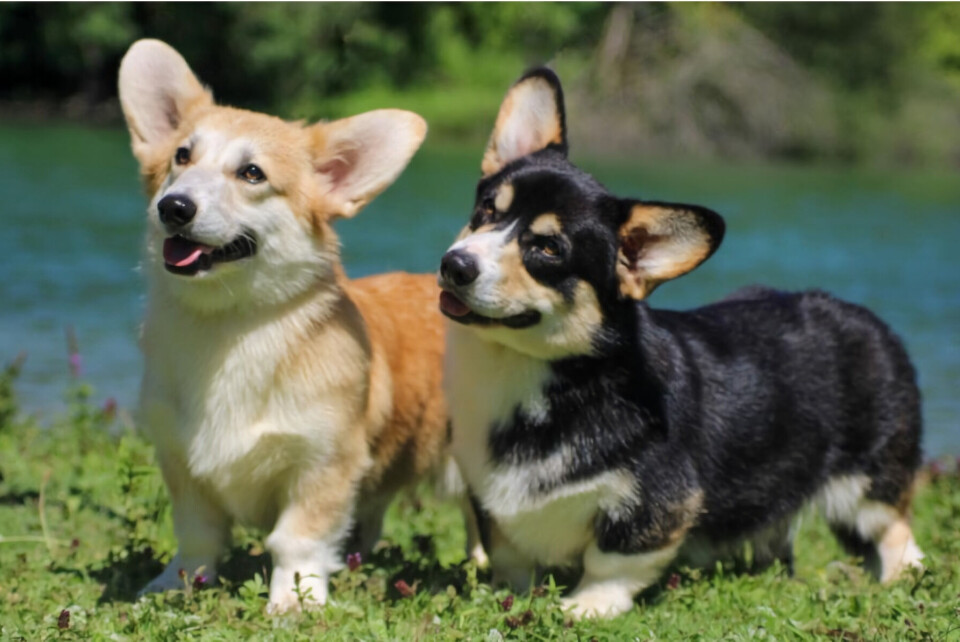
M331 431L355 419L343 416L347 400L323 394L322 372L303 381L281 375L316 310L206 319L157 300L150 308L142 337L144 431L161 459L186 468L228 514L269 526L285 476L322 465L332 455Z

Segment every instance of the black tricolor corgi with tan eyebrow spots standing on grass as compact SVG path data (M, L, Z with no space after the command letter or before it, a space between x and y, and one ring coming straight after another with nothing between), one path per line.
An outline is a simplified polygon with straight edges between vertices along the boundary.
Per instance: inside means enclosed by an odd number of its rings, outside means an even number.
M790 563L818 504L883 581L923 557L914 369L872 313L749 288L689 312L644 299L719 246L723 219L620 199L567 160L545 69L507 94L470 224L444 255L453 449L495 579L583 569L575 615L612 615L675 559L752 543ZM679 556L679 557L678 557Z

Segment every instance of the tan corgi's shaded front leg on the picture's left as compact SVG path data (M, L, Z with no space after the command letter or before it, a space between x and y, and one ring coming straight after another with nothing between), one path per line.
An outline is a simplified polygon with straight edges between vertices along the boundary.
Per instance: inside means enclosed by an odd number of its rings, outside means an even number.
M190 477L186 467L170 458L160 458L163 478L173 504L173 530L177 537L177 554L160 575L139 593L155 593L184 588L188 581L202 574L207 583L217 577L217 561L230 535L230 519L205 489Z

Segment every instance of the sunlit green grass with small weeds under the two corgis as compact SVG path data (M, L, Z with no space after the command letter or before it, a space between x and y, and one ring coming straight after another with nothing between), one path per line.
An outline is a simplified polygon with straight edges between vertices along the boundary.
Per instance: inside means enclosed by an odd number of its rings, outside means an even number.
M260 534L237 529L218 586L137 601L174 549L150 447L124 413L68 392L38 425L0 377L0 639L113 640L960 640L960 477L927 468L915 530L927 568L881 587L804 517L796 575L677 569L629 614L567 621L561 580L494 591L462 561L456 510L429 492L399 499L372 559L333 579L332 604L268 617ZM119 415L119 417L118 417Z

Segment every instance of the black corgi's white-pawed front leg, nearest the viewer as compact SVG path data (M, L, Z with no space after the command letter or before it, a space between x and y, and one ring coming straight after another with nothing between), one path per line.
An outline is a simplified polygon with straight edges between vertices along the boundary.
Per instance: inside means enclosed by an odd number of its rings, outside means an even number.
M679 544L673 544L623 555L605 553L591 542L583 556L583 577L573 593L563 599L563 608L575 618L626 613L633 608L633 598L657 581L678 549Z

